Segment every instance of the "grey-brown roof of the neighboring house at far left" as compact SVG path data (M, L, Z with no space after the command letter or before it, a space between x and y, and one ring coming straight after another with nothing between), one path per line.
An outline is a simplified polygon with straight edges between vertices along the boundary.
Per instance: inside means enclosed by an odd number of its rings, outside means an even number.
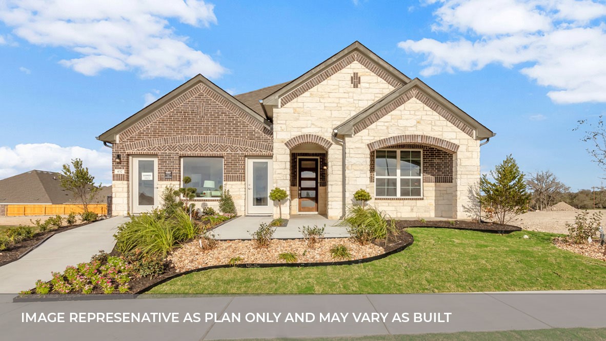
M52 171L32 170L0 180L0 204L77 204L72 192L61 187L59 176ZM94 203L104 203L112 195L105 186Z

